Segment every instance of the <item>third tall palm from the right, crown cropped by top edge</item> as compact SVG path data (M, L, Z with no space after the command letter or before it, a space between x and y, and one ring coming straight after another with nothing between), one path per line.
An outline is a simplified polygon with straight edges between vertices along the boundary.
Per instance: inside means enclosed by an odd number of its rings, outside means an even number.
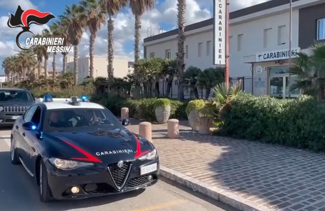
M109 19L107 21L107 31L108 31L108 46L107 46L107 75L108 79L112 80L114 78L114 69L113 69L113 59L114 59L114 21L112 16L116 15L122 7L125 7L128 0L101 0L102 3L106 4L107 14Z

